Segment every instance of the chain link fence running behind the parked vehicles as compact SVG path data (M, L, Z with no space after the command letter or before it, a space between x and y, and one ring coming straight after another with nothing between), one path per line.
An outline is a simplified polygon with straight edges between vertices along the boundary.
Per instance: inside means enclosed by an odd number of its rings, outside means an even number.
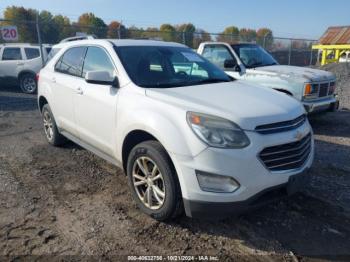
M317 50L311 47L317 40L275 37L272 34L264 36L241 36L235 34L207 33L204 30L195 31L160 31L157 28L138 29L126 28L119 24L116 27L86 26L69 23L62 17L59 21L11 21L0 19L0 25L14 25L18 28L18 41L32 44L56 44L62 39L76 35L95 35L97 38L117 39L155 39L185 44L197 49L205 41L221 41L234 43L256 43L270 52L282 65L310 66L317 62ZM0 38L1 43L5 42Z

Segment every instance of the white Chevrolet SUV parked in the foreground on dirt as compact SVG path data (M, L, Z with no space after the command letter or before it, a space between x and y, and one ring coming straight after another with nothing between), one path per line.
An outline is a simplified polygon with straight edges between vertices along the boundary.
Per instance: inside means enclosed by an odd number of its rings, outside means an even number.
M234 80L188 47L60 44L39 76L52 145L68 138L124 168L141 210L223 217L294 192L311 166L303 106ZM298 179L299 178L299 179Z

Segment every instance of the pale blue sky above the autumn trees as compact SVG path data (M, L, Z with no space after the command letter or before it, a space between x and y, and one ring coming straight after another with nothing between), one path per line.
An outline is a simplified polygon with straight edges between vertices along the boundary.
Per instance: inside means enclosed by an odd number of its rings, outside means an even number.
M159 26L191 22L215 33L226 26L269 27L275 36L318 39L328 26L350 25L350 0L0 0L9 5L48 10L77 20L93 12L127 26Z

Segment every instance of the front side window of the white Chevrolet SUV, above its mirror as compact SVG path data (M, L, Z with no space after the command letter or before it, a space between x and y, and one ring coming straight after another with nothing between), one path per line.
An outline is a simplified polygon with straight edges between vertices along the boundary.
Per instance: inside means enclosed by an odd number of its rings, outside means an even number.
M114 75L114 65L107 53L99 47L89 47L86 53L83 77L89 71L107 71L112 77Z

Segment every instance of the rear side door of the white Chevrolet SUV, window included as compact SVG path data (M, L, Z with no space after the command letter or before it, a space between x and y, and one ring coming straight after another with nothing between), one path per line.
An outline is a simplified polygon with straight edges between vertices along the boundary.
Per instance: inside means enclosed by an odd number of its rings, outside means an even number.
M74 99L80 93L83 60L86 47L68 49L55 65L54 72L48 75L52 86L52 111L61 131L78 137L74 114Z

